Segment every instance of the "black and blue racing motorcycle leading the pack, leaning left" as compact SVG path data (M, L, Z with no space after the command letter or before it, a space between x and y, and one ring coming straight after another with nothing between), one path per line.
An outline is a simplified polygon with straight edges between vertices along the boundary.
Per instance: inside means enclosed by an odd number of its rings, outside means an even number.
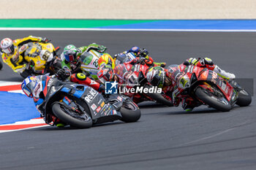
M114 120L129 123L140 119L140 109L127 96L102 95L89 86L63 82L55 76L41 75L36 79L37 84L31 90L34 102L42 102L38 109L49 125L61 122L76 128L90 128L93 124Z

